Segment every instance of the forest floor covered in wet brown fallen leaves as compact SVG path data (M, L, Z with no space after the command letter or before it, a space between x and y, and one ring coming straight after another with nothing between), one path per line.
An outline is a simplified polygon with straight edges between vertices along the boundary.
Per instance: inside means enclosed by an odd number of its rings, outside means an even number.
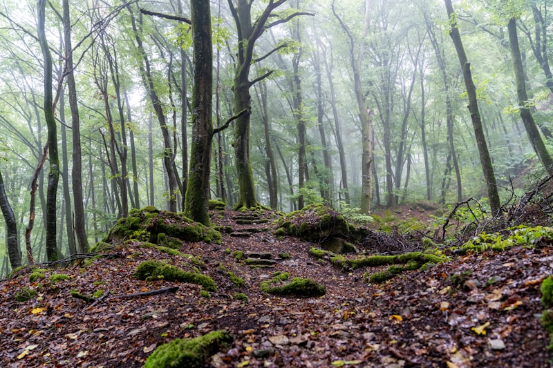
M35 282L24 269L3 280L0 366L140 367L165 342L220 329L234 342L206 366L550 366L550 338L538 316L543 311L541 280L553 273L550 245L452 256L426 271L370 284L363 278L367 269L344 273L313 258L309 250L317 244L277 238L271 221L276 213L268 212L270 221L261 225L236 224L234 215L212 216L216 224L234 230L223 234L221 245L185 242L179 249L200 256L202 273L214 278L217 291L209 298L200 296L196 284L133 278L144 260L180 262L138 242L113 249L117 257L95 260L86 268L45 271L45 278ZM251 268L238 262L234 251L271 253L274 264ZM229 271L243 278L245 287L233 284ZM312 278L326 287L326 295L263 293L260 283L275 271ZM70 278L55 283L49 279L53 273ZM453 282L453 274L465 279ZM38 294L16 302L21 287ZM178 289L132 296L165 287ZM105 297L87 304L72 298L71 289L89 295L102 290ZM236 292L248 300L234 298Z

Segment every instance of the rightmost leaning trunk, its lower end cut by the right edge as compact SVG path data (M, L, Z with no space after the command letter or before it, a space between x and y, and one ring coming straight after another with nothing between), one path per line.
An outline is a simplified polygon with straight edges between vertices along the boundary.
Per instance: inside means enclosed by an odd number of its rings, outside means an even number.
M532 113L530 112L530 107L527 106L528 96L524 79L523 59L521 49L518 46L518 37L516 35L516 19L512 18L509 20L507 30L509 31L511 57L513 59L514 74L516 78L516 95L518 97L518 106L520 106L521 109L521 119L523 119L526 133L528 134L532 148L534 148L536 155L538 155L541 164L549 175L553 175L553 159L550 153L547 152L547 148L545 148L536 122L534 122L534 117L532 117Z

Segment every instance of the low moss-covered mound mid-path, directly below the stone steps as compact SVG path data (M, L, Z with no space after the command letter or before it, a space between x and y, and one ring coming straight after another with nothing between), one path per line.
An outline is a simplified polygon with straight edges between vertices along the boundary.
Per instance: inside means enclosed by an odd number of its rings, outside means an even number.
M274 274L271 280L263 281L259 289L265 293L279 296L324 296L326 288L310 278L292 278L288 272Z

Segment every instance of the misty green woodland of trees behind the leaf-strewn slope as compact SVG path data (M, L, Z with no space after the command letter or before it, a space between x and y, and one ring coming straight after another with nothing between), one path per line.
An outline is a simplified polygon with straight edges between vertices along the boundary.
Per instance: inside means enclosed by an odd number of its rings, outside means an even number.
M197 162L193 84L205 60L188 3L6 1L1 197L17 230L0 238L17 236L24 260L86 251L130 209L185 211L193 165L208 176L191 208L326 202L368 215L474 197L498 211L551 171L548 3L453 6L212 1L215 133Z

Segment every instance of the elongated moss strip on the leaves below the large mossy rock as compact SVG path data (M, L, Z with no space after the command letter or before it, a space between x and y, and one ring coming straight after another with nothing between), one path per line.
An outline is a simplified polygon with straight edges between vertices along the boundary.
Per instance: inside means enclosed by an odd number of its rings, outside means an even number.
M189 282L198 284L207 291L217 291L215 281L207 275L189 272L155 261L145 261L136 267L135 278L139 280L158 280L162 278L168 281Z

